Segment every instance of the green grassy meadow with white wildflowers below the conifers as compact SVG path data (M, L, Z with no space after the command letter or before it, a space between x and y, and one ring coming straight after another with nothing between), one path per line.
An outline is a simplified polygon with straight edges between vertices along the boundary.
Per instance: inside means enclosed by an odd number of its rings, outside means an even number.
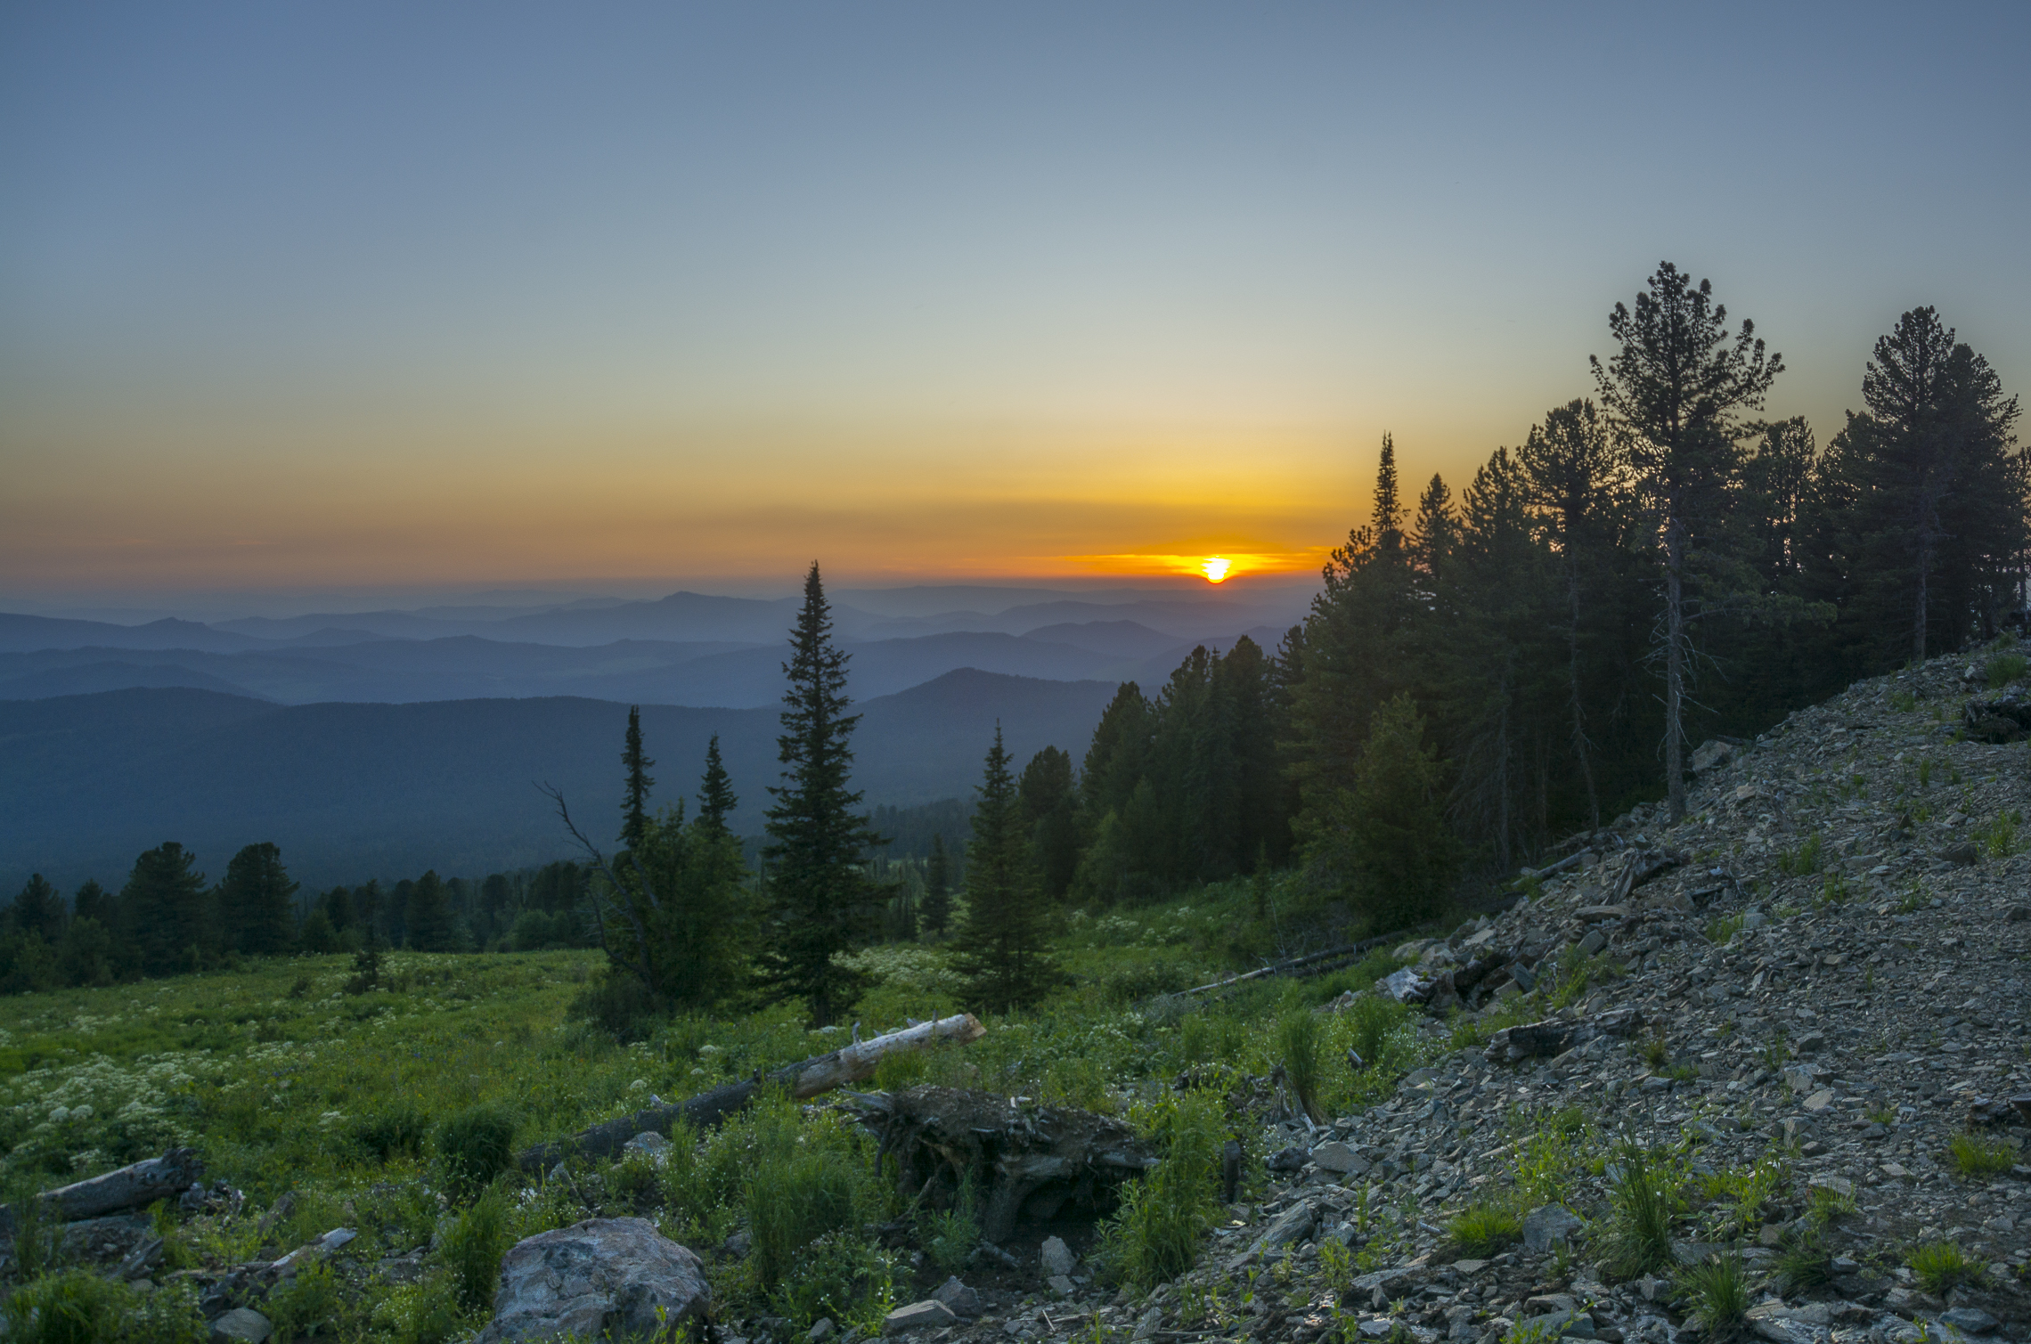
M975 1046L892 1058L875 1086L979 1086L1123 1115L1162 1139L1170 1084L1188 1068L1225 1090L1284 1064L1322 1113L1345 1115L1460 1044L1373 997L1351 1013L1308 1011L1371 985L1395 964L1387 952L1210 1003L1176 997L1257 964L1273 948L1275 908L1277 893L1229 883L1074 912L1056 942L1062 987L1046 1003L989 1017ZM877 946L857 964L875 979L855 1013L863 1037L967 1007L936 946ZM916 1263L861 1234L906 1210L869 1143L823 1104L778 1100L719 1133L674 1135L664 1163L583 1163L565 1180L514 1171L514 1149L847 1039L806 1031L792 1005L756 1005L617 1041L573 1013L599 970L599 952L392 952L378 989L349 993L349 956L294 956L0 999L0 1171L16 1206L173 1145L199 1149L207 1180L246 1192L240 1212L154 1212L165 1263L144 1295L87 1283L51 1230L30 1226L10 1318L26 1326L51 1316L37 1309L45 1299L100 1293L108 1301L79 1312L106 1322L106 1338L199 1338L207 1271L337 1226L359 1238L262 1303L278 1338L461 1338L483 1324L512 1240L593 1214L656 1218L707 1257L723 1316L784 1326L827 1314L873 1324L918 1279L936 1283L946 1261L963 1261L965 1210L922 1228L928 1259ZM1334 1066L1349 1048L1381 1068ZM735 1230L749 1232L751 1255L719 1253Z

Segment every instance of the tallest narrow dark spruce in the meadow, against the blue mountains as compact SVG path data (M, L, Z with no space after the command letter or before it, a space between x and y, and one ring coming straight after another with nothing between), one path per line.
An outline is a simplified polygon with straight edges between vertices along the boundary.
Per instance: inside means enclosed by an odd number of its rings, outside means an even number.
M833 958L873 936L881 891L865 873L881 843L851 786L853 729L847 715L847 652L833 646L833 615L816 560L790 631L790 690L776 739L784 784L772 786L768 838L768 946L762 977L778 999L802 999L814 1025L831 1025L863 981Z

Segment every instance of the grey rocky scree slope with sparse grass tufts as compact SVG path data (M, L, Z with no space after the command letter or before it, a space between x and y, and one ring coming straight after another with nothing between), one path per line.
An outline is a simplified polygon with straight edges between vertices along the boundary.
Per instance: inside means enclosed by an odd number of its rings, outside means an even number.
M1980 674L1708 743L1678 826L1637 808L1399 948L1379 993L1430 1062L1332 1125L1273 1108L1269 1188L1192 1273L938 1338L2031 1338L2031 751L1968 737L2021 733ZM1663 1257L1617 1273L1633 1161L1676 1204ZM1718 1316L1688 1281L1737 1271Z

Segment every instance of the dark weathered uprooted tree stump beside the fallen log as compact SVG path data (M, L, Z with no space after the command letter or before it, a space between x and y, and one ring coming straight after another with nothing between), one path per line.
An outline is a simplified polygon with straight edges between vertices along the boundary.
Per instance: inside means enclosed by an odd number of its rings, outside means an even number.
M1156 1157L1121 1121L1072 1106L1018 1104L971 1088L855 1094L861 1123L896 1159L904 1198L951 1208L971 1178L981 1236L1005 1240L1018 1222L1050 1220L1066 1202L1105 1214L1123 1182Z

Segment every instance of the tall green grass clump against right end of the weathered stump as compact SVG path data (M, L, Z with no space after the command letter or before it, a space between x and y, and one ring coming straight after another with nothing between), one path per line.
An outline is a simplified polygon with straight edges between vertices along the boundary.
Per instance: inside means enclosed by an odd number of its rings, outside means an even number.
M1113 1277L1156 1287L1192 1267L1198 1242L1219 1210L1221 1102L1206 1092L1186 1092L1158 1119L1168 1139L1164 1159L1129 1186L1121 1210L1101 1230L1101 1263Z

